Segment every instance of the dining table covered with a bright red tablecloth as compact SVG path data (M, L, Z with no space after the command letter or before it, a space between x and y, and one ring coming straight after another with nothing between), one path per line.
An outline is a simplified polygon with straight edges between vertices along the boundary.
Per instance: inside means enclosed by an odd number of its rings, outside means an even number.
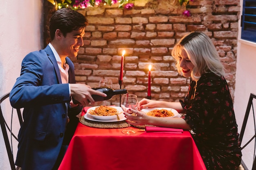
M128 135L122 133L125 120L115 128L100 124L81 116L58 170L206 170L187 130L146 132L131 126L136 133Z

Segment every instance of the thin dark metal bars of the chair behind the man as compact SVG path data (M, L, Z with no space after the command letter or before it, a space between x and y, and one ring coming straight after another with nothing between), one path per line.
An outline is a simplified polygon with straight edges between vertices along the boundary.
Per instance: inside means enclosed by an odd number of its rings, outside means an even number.
M2 108L1 108L2 102L5 99L9 99L9 96L10 96L10 93L6 93L2 97L0 97L0 125L1 125L1 129L2 129L2 134L3 134L3 137L4 137L4 143L5 143L5 146L6 146L6 149L7 149L7 154L8 154L11 170L16 170L15 164L14 164L14 159L13 159L13 148L12 148L12 138L14 138L18 141L17 136L14 135L13 132L12 132L12 121L13 121L13 109L14 108L12 108L12 112L11 112L11 125L10 126L5 121L4 115L2 113ZM20 126L21 126L21 124L23 123L21 111L20 111L20 108L17 108L16 110L17 110L17 114L18 114L19 123L20 123ZM10 132L10 139L8 137L8 134L7 134L7 129Z

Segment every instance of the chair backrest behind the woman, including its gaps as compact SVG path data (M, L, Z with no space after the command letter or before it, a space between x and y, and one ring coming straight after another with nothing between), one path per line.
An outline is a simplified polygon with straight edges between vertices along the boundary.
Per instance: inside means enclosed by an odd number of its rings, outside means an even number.
M254 102L256 100L256 95L254 95L253 93L250 94L250 97L249 97L249 101L248 101L248 104L247 104L247 108L246 108L246 111L245 111L245 118L244 118L244 121L243 121L243 125L242 125L242 128L241 128L241 132L240 132L240 136L239 136L239 140L241 142L241 148L242 150L244 148L249 148L249 150L252 150L252 146L254 146L254 155L253 155L253 164L252 164L252 170L256 170L256 159L255 159L255 151L256 151L256 121L255 121L255 114L254 114ZM251 113L251 114L250 114ZM254 125L254 128L252 128L251 126L250 127L247 127L246 128L246 125L247 125L247 121L248 121L248 117L250 116L250 122L253 121L253 125ZM251 125L251 124L250 124ZM242 139L244 137L244 134L245 134L245 130L248 129L247 131L247 135L250 135L249 139L247 138L246 141L244 141L242 143ZM254 130L254 132L253 132ZM253 132L253 134L249 134L249 132ZM254 141L254 145L252 145ZM246 163L245 163L245 159L243 160L243 156L242 156L242 162L241 164L243 165L243 167L245 168L245 170L249 170L247 167L248 165L246 166Z

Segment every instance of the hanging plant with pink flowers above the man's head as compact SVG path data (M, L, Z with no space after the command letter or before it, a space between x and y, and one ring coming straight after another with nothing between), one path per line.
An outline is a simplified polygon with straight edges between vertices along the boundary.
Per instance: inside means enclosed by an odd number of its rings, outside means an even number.
M132 0L48 0L57 9L70 8L73 10L85 9L87 7L98 7L103 5L112 5L119 3L119 8L131 9L134 4L130 3Z

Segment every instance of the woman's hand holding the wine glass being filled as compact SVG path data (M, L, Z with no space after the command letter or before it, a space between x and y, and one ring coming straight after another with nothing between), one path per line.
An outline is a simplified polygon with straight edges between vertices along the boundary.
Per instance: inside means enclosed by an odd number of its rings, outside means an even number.
M126 108L124 105L121 105L121 108L124 110L124 117L126 117L126 122L132 125L145 125L149 124L150 116L146 115L144 112L137 110L135 107ZM134 113L134 114L132 114Z

